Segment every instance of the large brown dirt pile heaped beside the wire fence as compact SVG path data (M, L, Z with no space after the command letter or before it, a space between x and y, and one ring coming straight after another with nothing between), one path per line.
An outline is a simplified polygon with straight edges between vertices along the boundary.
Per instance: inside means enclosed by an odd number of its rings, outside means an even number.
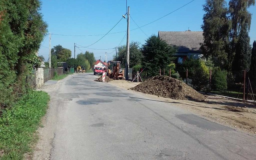
M134 91L165 98L204 101L206 97L186 83L172 77L155 76L131 88Z

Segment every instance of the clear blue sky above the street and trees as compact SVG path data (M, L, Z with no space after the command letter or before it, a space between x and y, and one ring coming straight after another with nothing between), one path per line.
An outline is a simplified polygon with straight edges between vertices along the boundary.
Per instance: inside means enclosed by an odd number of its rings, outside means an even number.
M127 6L130 6L130 16L139 25L143 26L150 23L178 8L187 4L191 0L127 0ZM175 11L168 16L142 27L130 31L130 41L139 41L145 43L148 36L158 34L158 31L185 31L188 28L191 31L201 31L203 23L202 5L205 0L195 0L185 7ZM251 44L256 40L256 6L249 8L253 14L251 20L251 30L249 36ZM41 13L48 24L48 32L51 34L63 35L99 35L107 33L126 13L126 0L42 0ZM130 19L130 30L137 28L136 24ZM51 48L55 45L62 45L64 48L72 50L74 57L74 43L81 46L90 46L94 49L114 48L121 43L126 44L125 32L127 28L126 19L122 19L109 34L102 38L96 44L93 44L101 36L51 36ZM146 35L145 35L146 34ZM147 36L148 35L148 36ZM123 39L123 41L122 41ZM49 37L44 38L39 49L39 55L43 55L47 60L49 57ZM83 52L86 50L93 52L96 59L99 56L105 60L111 60L115 50L93 50L79 48ZM76 55L81 53L78 48Z

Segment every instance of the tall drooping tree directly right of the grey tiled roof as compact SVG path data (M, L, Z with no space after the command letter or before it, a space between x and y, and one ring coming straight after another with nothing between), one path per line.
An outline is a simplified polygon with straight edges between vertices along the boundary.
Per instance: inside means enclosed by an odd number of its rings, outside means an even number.
M231 22L227 17L228 8L225 0L206 0L203 5L206 12L203 16L204 43L201 47L203 55L212 59L216 66L227 67L229 32Z

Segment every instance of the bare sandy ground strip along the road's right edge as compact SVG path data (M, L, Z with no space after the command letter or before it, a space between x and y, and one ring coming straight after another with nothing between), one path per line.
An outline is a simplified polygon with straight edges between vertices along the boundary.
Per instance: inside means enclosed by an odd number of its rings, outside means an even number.
M137 82L131 83L130 81L125 80L114 80L108 83L124 89L130 89L139 84ZM131 90L131 92L136 91ZM176 104L176 106L193 111L195 114L206 117L206 119L256 135L255 104L233 101L219 96L208 96L205 102L195 102L188 100L174 100L144 93L140 94L143 94L150 99L157 99L158 101Z

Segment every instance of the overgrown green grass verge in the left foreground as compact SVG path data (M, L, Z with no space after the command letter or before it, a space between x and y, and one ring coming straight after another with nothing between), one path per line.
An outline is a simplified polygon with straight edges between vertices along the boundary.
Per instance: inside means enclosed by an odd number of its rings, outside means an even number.
M43 91L29 91L0 117L0 159L20 160L36 142L35 131L45 115L49 95Z

